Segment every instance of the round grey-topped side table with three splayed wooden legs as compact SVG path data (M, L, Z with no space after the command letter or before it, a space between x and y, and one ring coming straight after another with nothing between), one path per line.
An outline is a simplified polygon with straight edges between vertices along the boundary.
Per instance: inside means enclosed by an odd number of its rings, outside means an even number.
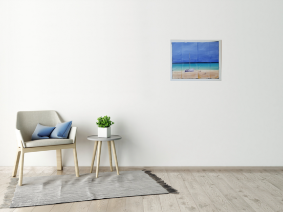
M118 168L118 160L117 160L117 155L116 155L116 149L115 149L115 142L114 142L114 140L120 140L121 138L122 138L122 137L121 137L120 135L111 135L111 137L98 137L98 135L91 135L91 136L88 136L88 140L95 140L94 149L93 149L93 156L92 156L91 173L92 173L92 171L93 171L94 159L95 159L95 154L96 154L97 145L98 145L96 177L98 177L98 172L99 172L99 163L100 163L100 153L101 153L101 145L102 145L102 142L107 142L107 143L108 143L108 153L109 153L110 170L111 170L111 172L113 171L113 167L112 167L112 155L111 155L111 145L112 145L112 150L113 150L113 155L114 155L114 160L115 160L117 175L120 175L120 173L119 173L119 168Z

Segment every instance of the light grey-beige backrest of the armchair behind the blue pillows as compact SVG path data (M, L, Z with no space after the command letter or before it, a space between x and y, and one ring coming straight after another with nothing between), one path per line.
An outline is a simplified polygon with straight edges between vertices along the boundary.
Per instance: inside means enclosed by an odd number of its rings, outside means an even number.
M16 129L20 130L25 142L31 140L37 123L55 127L62 120L55 110L19 111L17 113Z

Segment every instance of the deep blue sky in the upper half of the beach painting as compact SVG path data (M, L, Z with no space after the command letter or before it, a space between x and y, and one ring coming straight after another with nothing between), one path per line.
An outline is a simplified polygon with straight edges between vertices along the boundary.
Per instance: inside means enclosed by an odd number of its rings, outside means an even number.
M172 42L172 63L219 62L219 41Z

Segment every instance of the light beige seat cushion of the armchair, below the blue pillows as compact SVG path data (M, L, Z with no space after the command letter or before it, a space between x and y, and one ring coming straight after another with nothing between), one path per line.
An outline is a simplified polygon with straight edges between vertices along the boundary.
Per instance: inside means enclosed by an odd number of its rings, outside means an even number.
M30 142L25 142L26 148L63 145L63 144L73 144L73 139L49 138L49 139L31 140Z

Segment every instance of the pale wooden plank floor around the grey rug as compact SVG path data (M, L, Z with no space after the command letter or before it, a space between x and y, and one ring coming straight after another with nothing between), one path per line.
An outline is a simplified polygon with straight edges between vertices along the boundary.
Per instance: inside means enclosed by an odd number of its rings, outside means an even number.
M80 174L88 173L83 168ZM95 169L94 169L95 170ZM105 172L108 170L101 170ZM121 170L126 171L126 170ZM125 197L0 211L283 211L282 170L152 170L180 194ZM12 167L0 167L0 204ZM24 177L75 174L72 167L25 167ZM17 176L18 177L18 176Z

